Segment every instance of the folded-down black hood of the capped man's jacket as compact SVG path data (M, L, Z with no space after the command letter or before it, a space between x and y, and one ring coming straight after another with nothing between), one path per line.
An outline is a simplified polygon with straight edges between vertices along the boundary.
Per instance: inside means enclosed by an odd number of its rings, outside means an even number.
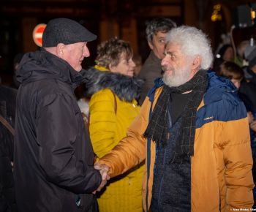
M26 53L17 71L20 83L56 78L69 83L72 88L86 81L80 72L75 71L67 61L49 53L45 49Z

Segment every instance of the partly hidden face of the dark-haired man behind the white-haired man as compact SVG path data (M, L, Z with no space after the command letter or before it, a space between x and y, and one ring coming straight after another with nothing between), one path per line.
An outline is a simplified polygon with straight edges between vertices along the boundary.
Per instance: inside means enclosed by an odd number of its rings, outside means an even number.
M149 47L153 50L154 55L157 58L162 59L165 57L165 37L166 33L158 31L157 34L153 35L151 42L148 42Z

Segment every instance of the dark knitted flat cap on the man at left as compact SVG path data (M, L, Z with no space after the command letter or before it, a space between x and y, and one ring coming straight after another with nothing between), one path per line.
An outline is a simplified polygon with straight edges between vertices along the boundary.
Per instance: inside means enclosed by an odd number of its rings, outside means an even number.
M89 42L96 38L95 34L75 20L56 18L49 21L42 34L42 47L54 47L59 43L68 45L75 42Z

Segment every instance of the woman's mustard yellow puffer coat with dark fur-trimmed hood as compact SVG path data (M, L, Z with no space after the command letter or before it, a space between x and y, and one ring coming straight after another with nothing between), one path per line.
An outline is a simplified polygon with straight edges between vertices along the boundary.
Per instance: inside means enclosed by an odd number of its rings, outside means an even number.
M141 80L111 72L89 69L86 83L89 102L89 132L94 153L107 154L127 135L128 126L140 111L138 97ZM99 194L100 212L142 212L142 178L145 164L140 163L125 175L113 178Z

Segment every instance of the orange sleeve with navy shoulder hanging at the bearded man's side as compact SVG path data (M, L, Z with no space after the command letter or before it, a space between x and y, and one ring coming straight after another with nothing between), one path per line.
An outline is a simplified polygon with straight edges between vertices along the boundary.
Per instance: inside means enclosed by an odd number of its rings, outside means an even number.
M248 209L253 205L252 188L254 183L249 124L244 105L241 102L236 103L231 104L227 102L227 99L223 100L223 104L232 109L227 111L227 116L234 118L230 121L222 121L218 130L225 163L227 187L225 211L234 211L233 208ZM223 107L225 106L222 105ZM238 118L238 116L240 117Z

